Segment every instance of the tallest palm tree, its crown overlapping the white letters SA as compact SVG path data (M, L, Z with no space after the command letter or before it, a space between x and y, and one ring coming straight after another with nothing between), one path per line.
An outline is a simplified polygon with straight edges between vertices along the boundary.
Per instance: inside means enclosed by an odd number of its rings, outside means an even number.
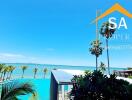
M113 28L110 28L113 27ZM108 40L112 37L112 35L115 33L114 25L110 24L109 22L106 22L102 25L100 29L100 34L106 38L106 50L107 50L107 61L108 61L108 73L110 75L110 61L109 61L109 45Z

